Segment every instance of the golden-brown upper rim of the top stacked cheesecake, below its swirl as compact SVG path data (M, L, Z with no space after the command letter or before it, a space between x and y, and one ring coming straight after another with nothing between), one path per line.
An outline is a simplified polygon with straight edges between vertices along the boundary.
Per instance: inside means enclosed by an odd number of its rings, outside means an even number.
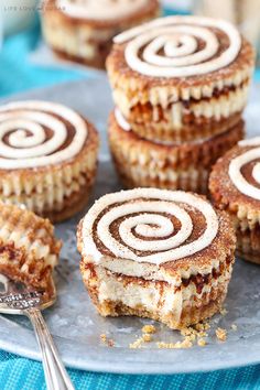
M176 101L181 98L188 100L191 97L196 99L212 97L215 88L221 90L225 86L240 85L251 75L254 65L253 47L242 39L241 48L236 59L221 69L189 77L152 77L132 71L127 65L124 58L126 45L115 44L107 59L107 69L112 87L120 86L127 96L128 93L130 96L139 93L145 100L149 100L149 95L158 93L159 96L160 91L163 93L164 90L171 93L172 100L170 101Z

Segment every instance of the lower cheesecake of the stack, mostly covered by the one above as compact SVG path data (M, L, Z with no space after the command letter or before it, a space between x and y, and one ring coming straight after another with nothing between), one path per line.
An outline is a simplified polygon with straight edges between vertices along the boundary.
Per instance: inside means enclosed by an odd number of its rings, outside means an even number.
M110 115L108 137L115 166L124 186L206 194L212 166L243 138L243 121L204 140L152 142L132 131L116 109Z

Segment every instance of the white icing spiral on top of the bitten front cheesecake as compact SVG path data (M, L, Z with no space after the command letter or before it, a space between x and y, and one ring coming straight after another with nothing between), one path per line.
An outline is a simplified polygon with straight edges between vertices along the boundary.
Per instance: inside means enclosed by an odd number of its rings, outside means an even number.
M187 243L194 226L183 204L205 218L203 234ZM169 215L181 224L175 235ZM119 218L118 238L110 227ZM94 226L100 242L115 257L160 264L208 247L217 235L218 217L208 202L181 191L137 188L106 195L95 203L83 220L84 252L86 256L91 253L98 262L102 253L94 238ZM147 254L148 251L151 254Z

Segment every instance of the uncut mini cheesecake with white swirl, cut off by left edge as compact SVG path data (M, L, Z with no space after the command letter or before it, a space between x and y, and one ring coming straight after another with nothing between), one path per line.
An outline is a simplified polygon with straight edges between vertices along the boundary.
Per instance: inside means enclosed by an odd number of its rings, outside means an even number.
M0 201L59 221L82 209L97 165L98 134L68 107L15 101L0 107Z

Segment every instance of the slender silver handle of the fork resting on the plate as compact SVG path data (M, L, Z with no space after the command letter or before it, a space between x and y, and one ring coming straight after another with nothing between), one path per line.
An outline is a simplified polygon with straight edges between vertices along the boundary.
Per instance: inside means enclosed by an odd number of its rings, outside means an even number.
M25 312L32 322L42 351L47 390L74 390L41 311L31 307Z

